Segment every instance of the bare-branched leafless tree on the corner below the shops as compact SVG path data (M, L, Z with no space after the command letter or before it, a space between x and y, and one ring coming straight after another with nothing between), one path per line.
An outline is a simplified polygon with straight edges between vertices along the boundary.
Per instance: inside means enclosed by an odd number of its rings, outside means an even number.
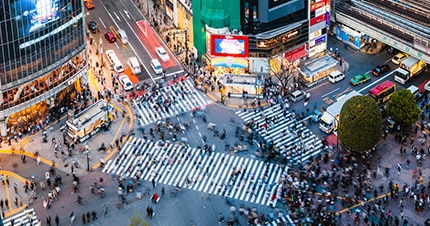
M285 95L289 81L294 78L296 67L282 57L272 58L269 64L270 75L278 79L282 87L282 95Z

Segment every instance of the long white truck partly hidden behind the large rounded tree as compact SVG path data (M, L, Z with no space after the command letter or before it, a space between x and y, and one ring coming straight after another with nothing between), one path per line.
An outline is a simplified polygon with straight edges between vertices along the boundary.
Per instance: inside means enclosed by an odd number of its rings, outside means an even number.
M329 134L337 130L337 127L339 125L339 115L340 111L342 110L343 104L354 96L361 96L361 94L353 90L348 94L340 96L335 103L333 103L327 108L320 120L319 127L321 131Z

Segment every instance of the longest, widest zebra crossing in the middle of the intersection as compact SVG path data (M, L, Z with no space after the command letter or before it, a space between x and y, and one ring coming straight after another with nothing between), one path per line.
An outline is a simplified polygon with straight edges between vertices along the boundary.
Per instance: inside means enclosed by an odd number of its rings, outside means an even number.
M180 143L130 137L103 172L180 186L260 205L271 204L283 169L277 164L219 152L205 152Z

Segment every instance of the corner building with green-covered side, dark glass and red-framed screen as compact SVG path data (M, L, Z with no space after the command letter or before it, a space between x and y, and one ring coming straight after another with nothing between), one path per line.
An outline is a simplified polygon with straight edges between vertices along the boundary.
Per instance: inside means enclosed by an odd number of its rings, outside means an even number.
M193 1L194 46L219 73L271 74L326 50L329 0Z

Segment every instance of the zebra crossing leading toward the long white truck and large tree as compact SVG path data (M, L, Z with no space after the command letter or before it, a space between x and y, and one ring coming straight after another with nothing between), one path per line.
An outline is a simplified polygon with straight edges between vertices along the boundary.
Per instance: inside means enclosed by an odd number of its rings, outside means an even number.
M252 129L266 142L274 144L290 163L304 162L320 154L324 148L321 140L297 120L294 113L284 110L281 105L263 110L237 111L236 114L246 123L252 121Z

